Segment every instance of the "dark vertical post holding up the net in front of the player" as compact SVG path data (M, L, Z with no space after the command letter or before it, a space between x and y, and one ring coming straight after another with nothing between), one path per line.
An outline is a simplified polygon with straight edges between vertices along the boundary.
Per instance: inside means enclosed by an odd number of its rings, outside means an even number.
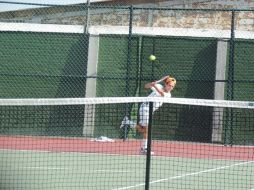
M149 190L149 182L150 182L152 121L153 121L152 116L153 116L153 102L149 102L149 122L148 122L147 153L146 153L145 190Z

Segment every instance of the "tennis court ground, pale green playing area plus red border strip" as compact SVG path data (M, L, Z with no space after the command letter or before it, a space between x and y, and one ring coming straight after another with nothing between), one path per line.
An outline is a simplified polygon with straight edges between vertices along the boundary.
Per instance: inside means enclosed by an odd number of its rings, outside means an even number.
M144 189L139 140L0 137L1 189ZM254 148L154 141L150 189L253 189Z

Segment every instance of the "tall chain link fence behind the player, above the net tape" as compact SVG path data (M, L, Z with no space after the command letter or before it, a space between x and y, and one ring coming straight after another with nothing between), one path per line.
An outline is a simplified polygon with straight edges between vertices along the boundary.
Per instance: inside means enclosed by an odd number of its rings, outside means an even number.
M172 75L174 97L252 101L253 22L252 10L153 4L0 12L0 97L146 96L145 83ZM131 116L137 110L127 108Z

